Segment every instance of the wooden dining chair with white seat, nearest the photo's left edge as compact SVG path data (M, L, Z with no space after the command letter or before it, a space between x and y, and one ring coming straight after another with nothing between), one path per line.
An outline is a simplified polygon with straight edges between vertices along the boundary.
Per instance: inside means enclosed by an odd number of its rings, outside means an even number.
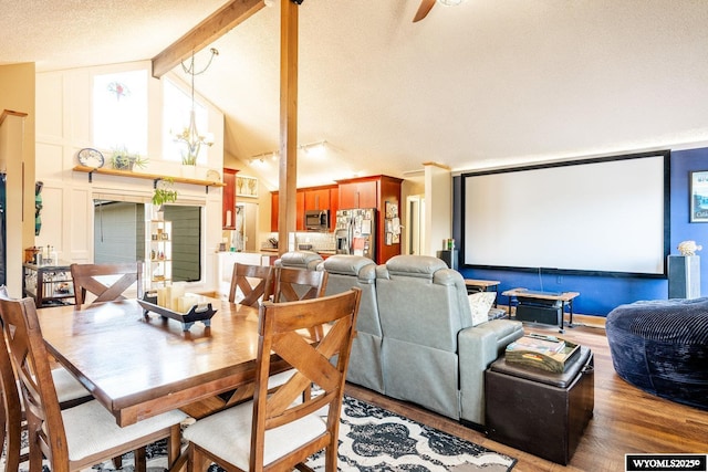
M34 301L0 300L0 316L25 407L31 471L42 470L44 458L53 472L80 471L164 438L168 460L175 461L185 413L173 410L121 428L96 400L61 410ZM146 470L144 454L136 455L135 469Z

